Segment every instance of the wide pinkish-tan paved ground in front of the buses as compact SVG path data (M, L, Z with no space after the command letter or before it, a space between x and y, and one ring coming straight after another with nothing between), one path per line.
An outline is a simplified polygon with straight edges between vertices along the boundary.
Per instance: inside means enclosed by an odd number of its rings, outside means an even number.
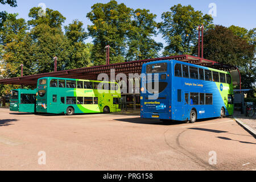
M166 124L0 109L0 170L256 170L255 151L256 140L232 118ZM210 165L214 153L217 164Z

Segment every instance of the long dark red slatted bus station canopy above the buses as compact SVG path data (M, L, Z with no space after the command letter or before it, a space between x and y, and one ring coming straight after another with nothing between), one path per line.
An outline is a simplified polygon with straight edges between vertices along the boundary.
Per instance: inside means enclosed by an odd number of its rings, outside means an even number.
M30 75L30 76L23 76L23 77L5 78L0 80L0 84L36 86L38 79L42 77L63 77L63 78L79 78L79 79L85 79L85 80L97 80L97 77L100 73L107 73L110 76L110 69L115 69L115 75L117 75L118 73L125 73L126 75L128 75L129 73L141 74L142 64L148 63L150 61L158 61L158 60L179 60L186 63L201 65L204 67L220 69L222 71L234 72L233 75L236 75L235 72L238 71L238 69L232 65L220 64L220 63L217 63L216 61L207 60L207 59L203 59L201 57L196 57L196 56L178 55L178 56L159 57L159 58L146 59L146 60L127 61L124 63L106 64L106 65L100 65L96 67L69 69L69 70L49 72L49 73L40 73L37 75ZM239 81L240 79L234 79L234 80L236 80L236 84L240 84L240 81Z

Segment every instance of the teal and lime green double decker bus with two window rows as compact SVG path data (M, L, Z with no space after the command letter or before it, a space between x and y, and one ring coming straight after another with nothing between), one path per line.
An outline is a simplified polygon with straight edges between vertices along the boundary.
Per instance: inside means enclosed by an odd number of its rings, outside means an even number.
M116 82L44 77L38 80L36 111L67 114L121 111Z

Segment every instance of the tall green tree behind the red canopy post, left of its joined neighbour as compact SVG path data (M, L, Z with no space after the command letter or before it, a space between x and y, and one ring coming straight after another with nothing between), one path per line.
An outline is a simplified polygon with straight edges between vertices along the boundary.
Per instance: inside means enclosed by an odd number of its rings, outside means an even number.
M94 65L105 63L105 46L110 45L112 63L125 60L126 33L130 29L132 9L116 1L96 3L87 17L93 23L88 26L89 35L93 38L92 60Z

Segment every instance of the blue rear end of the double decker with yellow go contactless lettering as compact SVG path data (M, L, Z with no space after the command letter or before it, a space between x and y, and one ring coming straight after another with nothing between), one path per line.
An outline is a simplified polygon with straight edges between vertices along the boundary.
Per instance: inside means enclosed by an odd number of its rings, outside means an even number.
M168 61L143 64L141 117L171 119L171 68Z

